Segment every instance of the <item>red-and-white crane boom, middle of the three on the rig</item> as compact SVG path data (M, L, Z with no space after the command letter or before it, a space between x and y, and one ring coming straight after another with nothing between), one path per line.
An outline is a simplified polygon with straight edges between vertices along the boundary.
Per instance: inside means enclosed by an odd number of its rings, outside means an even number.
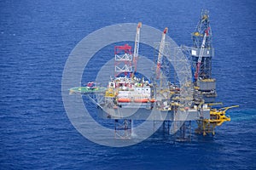
M158 58L157 58L157 67L156 67L156 78L157 79L160 77L160 67L161 67L162 57L163 57L163 53L164 53L165 45L166 45L167 31L168 31L168 28L166 27L162 33L162 39L160 42L160 48L159 48L159 53L158 53Z

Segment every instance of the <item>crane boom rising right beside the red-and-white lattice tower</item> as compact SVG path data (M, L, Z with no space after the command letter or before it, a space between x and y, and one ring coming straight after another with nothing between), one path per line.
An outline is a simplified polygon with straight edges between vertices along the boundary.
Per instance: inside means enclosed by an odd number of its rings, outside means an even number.
M138 49L139 49L139 43L140 43L140 31L142 27L142 23L139 22L137 24L137 31L136 31L136 37L135 37L135 44L134 44L134 52L133 52L133 74L132 77L134 76L135 72L137 71L137 58L138 58Z

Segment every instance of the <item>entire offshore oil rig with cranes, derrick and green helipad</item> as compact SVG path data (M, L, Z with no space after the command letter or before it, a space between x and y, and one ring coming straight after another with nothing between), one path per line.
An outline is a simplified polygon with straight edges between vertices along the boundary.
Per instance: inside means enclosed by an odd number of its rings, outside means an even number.
M170 66L166 58L168 28L162 32L160 43L156 43L154 76L148 78L137 74L141 30L142 23L138 23L134 48L128 44L114 47L115 73L108 87L88 82L87 86L70 88L70 94L89 97L97 105L98 116L114 120L114 136L117 139L131 139L133 122L145 120L162 122L161 126L168 133L177 135L177 140L190 139L191 122L197 123L195 133L214 135L215 127L230 121L226 111L238 105L214 108L221 103L215 103L216 80L212 78L214 48L208 11L202 10L192 33L193 47L181 46L177 50L189 60L189 71L192 73L192 77L183 83L171 82L170 79L171 67L176 66ZM175 60L172 63L181 64L177 56L169 57ZM173 75L175 77L177 73ZM91 95L102 95L102 100L97 101Z

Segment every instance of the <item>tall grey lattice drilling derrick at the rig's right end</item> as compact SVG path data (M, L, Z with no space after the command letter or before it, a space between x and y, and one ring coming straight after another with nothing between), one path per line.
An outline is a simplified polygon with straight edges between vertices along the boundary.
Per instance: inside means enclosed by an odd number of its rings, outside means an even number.
M191 58L195 89L200 92L205 103L212 103L217 94L216 81L212 78L214 49L212 48L212 30L207 10L202 10L195 32L192 33L192 40Z

